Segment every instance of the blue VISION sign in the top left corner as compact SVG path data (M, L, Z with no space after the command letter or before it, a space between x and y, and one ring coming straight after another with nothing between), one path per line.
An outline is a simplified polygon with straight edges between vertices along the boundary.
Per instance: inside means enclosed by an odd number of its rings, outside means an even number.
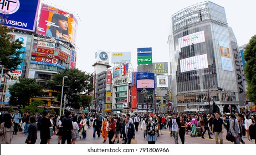
M40 0L1 0L0 16L8 27L34 32Z

